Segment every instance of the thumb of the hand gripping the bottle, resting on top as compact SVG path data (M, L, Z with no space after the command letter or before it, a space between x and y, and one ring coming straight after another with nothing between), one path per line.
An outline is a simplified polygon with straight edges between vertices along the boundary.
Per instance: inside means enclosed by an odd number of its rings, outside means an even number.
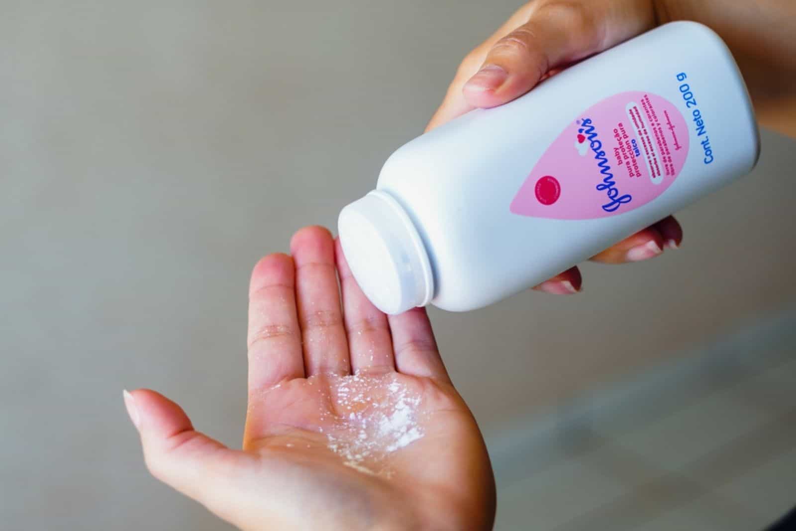
M538 2L528 21L491 46L462 87L472 107L495 107L531 90L552 69L617 45L655 25L649 0Z

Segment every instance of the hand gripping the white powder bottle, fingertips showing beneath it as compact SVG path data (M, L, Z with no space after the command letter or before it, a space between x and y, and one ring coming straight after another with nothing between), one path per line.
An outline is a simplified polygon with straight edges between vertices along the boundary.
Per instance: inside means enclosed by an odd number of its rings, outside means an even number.
M757 118L796 137L796 4L782 0L534 0L517 10L458 67L427 130L478 107L495 107L531 90L541 79L640 33L674 20L715 29L739 63ZM540 117L542 119L542 117ZM677 248L679 223L669 216L596 254L618 264ZM576 267L537 286L576 293Z

